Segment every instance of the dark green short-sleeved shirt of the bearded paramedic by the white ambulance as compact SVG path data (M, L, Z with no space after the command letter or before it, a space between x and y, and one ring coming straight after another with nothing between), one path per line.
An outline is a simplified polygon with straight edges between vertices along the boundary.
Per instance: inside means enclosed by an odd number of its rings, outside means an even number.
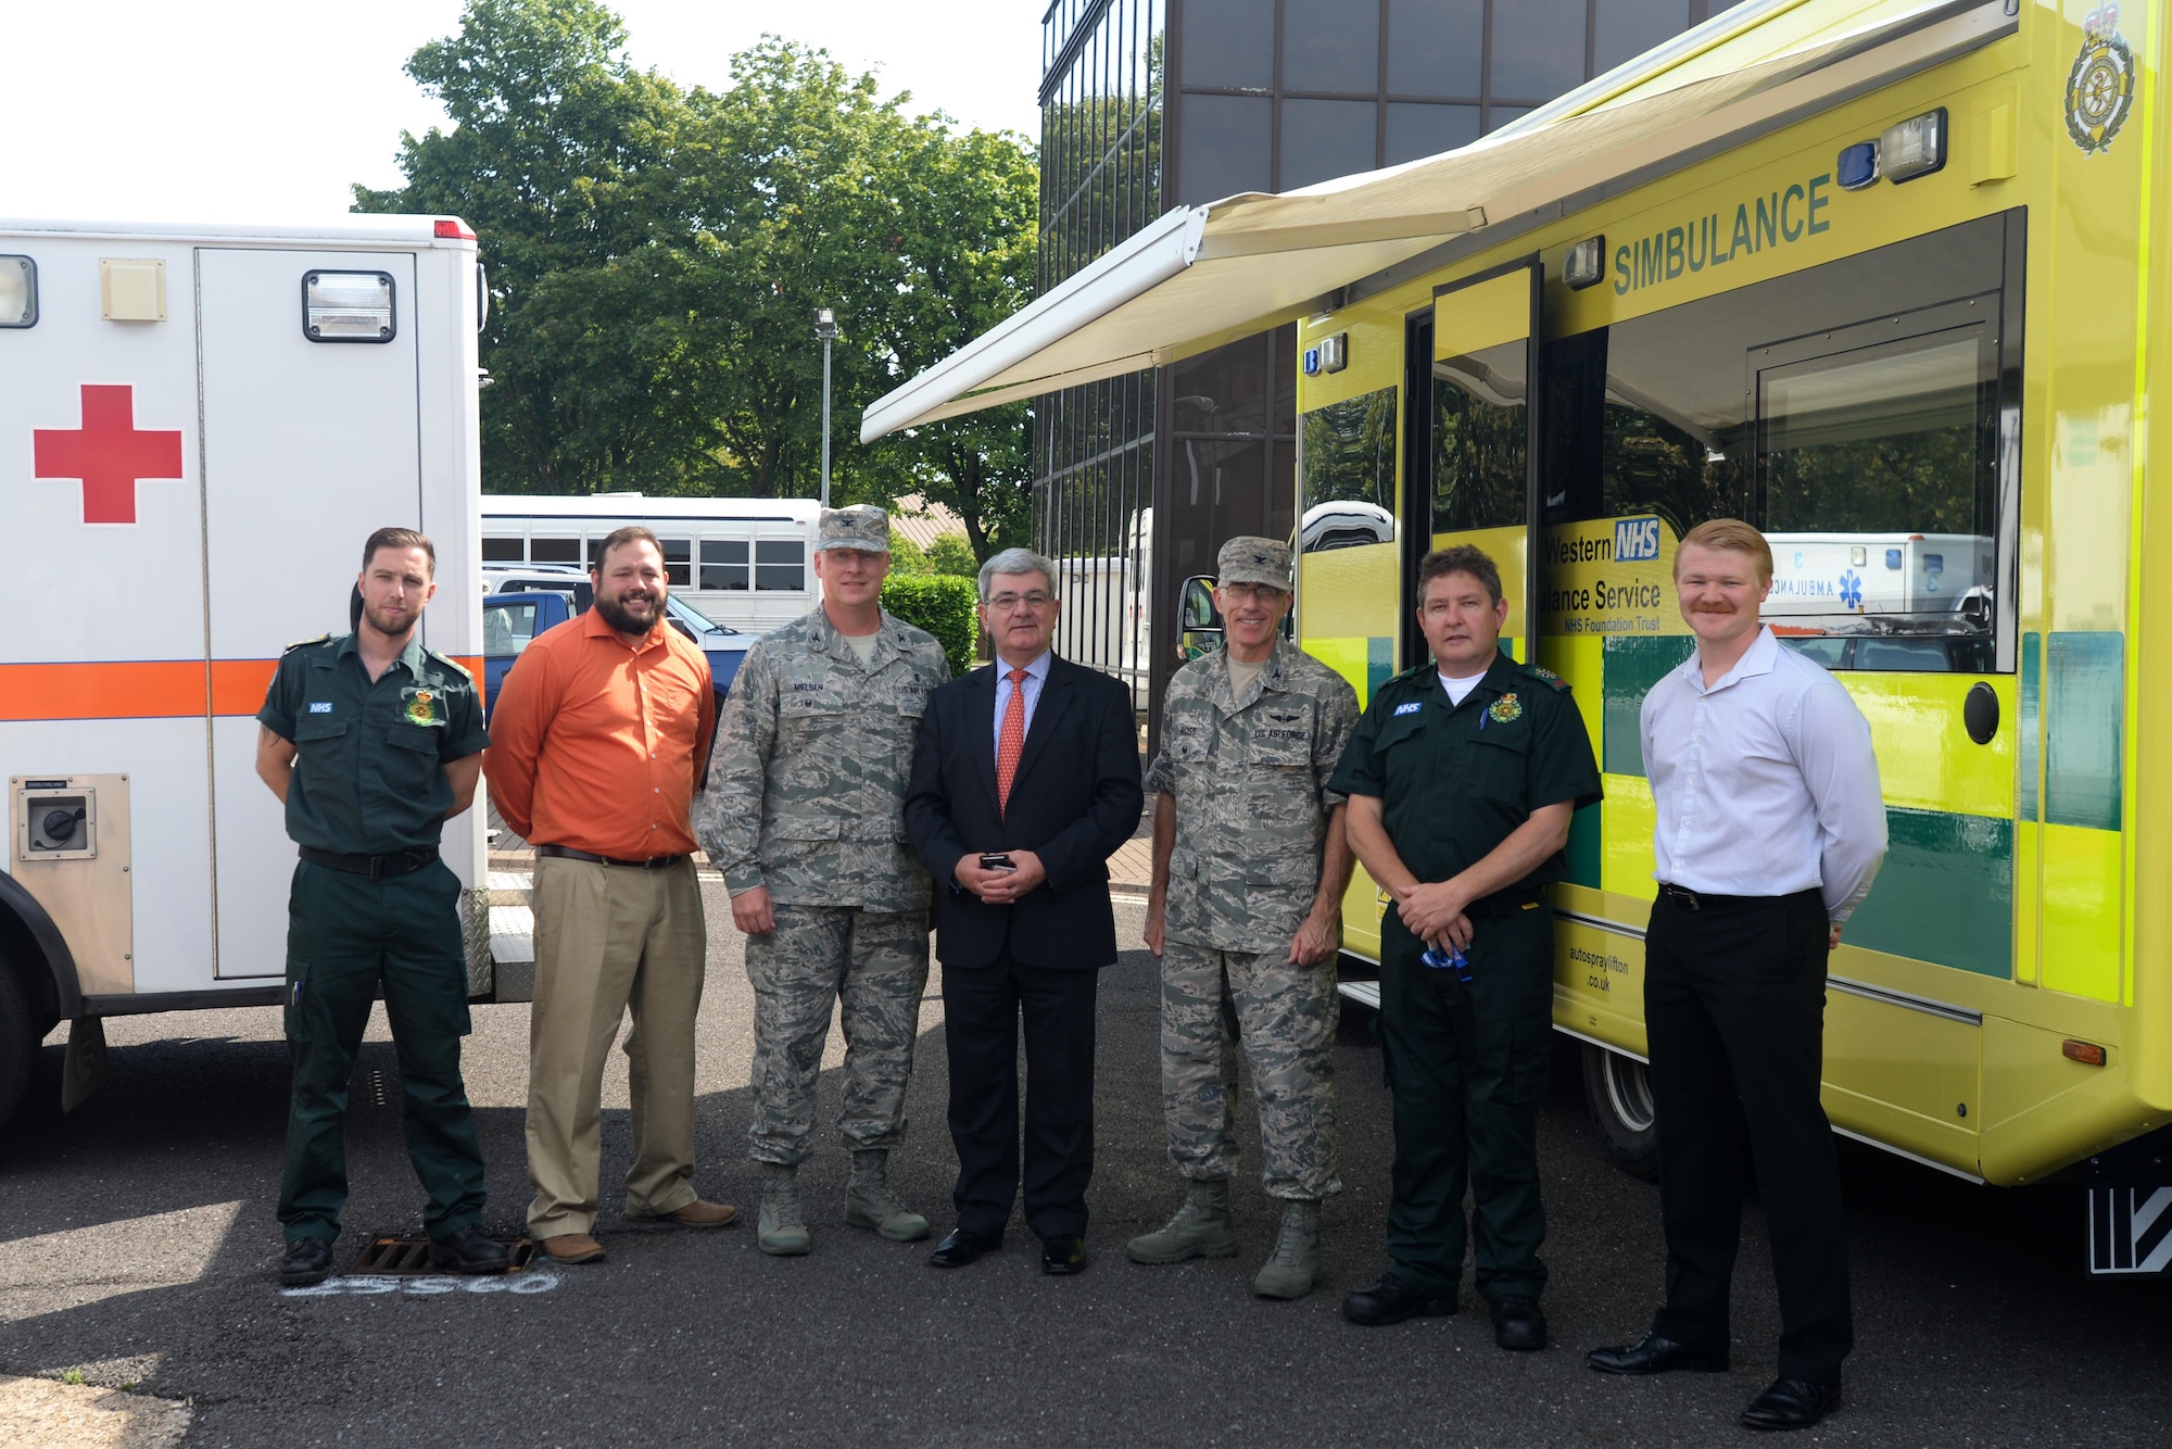
M491 743L473 680L415 639L376 682L354 634L298 643L256 719L295 745L287 834L343 856L437 845L452 810L445 765Z

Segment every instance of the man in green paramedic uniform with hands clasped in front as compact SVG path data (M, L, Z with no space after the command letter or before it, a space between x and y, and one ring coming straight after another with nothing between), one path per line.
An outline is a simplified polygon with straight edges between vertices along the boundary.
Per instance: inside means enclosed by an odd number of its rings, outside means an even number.
M1418 565L1434 658L1388 680L1327 789L1349 795L1358 860L1390 895L1379 1025L1394 1099L1390 1269L1351 1293L1351 1323L1455 1312L1464 1188L1477 1290L1494 1343L1542 1349L1546 1212L1538 1104L1546 1095L1553 915L1568 821L1599 799L1599 765L1568 684L1501 654L1501 571L1460 545Z

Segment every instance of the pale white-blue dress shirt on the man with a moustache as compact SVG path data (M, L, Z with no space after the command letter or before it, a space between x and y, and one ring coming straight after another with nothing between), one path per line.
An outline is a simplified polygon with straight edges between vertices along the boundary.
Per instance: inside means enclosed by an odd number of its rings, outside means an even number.
M1642 736L1657 880L1712 895L1818 886L1833 921L1870 893L1885 858L1870 726L1770 628L1712 689L1696 654L1653 684Z

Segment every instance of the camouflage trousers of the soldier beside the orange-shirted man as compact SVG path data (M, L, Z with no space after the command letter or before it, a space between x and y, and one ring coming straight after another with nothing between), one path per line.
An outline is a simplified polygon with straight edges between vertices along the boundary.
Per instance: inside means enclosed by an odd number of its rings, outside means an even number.
M747 936L754 982L754 1125L747 1156L797 1164L812 1151L815 1082L830 1010L845 1030L849 1149L906 1138L906 1080L927 991L927 912L778 906L778 928Z

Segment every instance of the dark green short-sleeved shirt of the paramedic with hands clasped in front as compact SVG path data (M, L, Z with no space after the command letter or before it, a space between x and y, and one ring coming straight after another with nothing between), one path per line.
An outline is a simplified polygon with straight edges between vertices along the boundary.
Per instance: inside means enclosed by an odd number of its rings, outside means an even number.
M1599 760L1568 684L1553 673L1501 654L1462 704L1449 704L1440 671L1425 660L1373 695L1327 789L1379 799L1403 865L1438 882L1483 860L1533 810L1596 802ZM1531 899L1566 871L1555 852L1499 895Z

